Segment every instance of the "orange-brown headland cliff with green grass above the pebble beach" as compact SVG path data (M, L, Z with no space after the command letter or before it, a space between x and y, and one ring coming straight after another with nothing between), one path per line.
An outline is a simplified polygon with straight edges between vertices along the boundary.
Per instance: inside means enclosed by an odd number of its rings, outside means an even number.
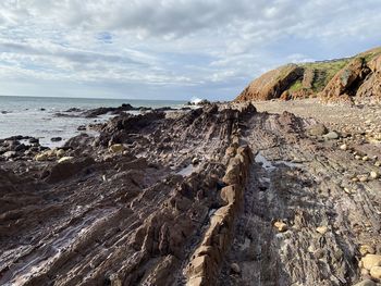
M236 101L319 97L325 102L381 100L381 48L348 59L288 64L253 80Z

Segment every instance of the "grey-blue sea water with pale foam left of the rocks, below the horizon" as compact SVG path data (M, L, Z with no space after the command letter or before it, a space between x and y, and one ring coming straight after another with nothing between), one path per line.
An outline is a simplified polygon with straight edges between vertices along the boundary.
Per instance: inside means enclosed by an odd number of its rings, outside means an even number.
M182 108L185 101L0 96L0 138L14 135L33 136L39 138L44 146L58 147L79 134L77 130L79 125L105 122L111 115L85 119L54 116L56 113L62 113L71 108L83 110L116 108L122 103L146 108ZM62 137L63 141L52 142L52 137Z

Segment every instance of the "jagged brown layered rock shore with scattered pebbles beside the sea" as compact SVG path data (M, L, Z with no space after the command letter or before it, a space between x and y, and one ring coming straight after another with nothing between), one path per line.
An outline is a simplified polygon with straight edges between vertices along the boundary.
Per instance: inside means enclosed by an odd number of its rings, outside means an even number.
M0 284L378 285L379 108L357 132L268 103L0 140Z

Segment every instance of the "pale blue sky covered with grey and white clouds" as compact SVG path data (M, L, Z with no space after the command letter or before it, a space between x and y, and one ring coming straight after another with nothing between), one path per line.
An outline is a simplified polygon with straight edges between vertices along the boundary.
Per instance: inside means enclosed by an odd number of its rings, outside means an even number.
M380 27L380 0L1 0L0 95L231 100Z

